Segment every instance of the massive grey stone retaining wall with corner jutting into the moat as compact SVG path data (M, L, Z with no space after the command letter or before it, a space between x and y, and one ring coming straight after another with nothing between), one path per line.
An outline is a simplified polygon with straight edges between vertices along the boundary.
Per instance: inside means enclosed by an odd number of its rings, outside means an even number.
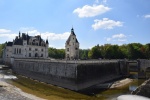
M81 90L122 76L118 60L14 59L13 71L45 83Z

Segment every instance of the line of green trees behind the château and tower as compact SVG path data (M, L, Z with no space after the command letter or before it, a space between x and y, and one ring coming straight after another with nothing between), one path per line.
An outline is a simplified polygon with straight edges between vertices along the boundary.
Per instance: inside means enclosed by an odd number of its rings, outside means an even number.
M0 44L0 57L4 44ZM65 49L56 49L49 47L48 56L55 59L65 58ZM91 49L80 49L80 59L150 59L150 43L130 43L123 45L96 45Z

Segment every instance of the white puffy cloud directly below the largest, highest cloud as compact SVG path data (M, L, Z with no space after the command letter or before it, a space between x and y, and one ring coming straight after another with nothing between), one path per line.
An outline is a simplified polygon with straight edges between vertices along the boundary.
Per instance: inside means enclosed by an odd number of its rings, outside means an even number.
M114 21L110 20L108 18L103 18L102 20L94 20L94 24L92 25L92 28L94 30L97 29L113 29L114 27L121 27L123 26L123 22L120 21Z

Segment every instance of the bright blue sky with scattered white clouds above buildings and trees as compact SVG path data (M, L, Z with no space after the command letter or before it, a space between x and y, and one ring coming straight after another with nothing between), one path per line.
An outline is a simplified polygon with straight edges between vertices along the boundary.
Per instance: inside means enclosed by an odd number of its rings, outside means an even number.
M0 43L21 31L64 48L71 28L81 49L150 43L149 0L0 0Z

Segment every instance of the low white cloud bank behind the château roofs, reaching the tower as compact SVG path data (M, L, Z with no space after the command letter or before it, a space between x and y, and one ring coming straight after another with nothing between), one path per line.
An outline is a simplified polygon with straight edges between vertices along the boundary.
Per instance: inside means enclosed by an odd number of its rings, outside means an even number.
M24 30L24 31L23 31ZM52 32L40 32L36 29L22 28L21 33L28 33L29 36L41 35L42 39L46 40L48 38L49 46L55 48L64 48L65 41L68 39L70 32L63 33L52 33ZM13 41L19 33L1 33L0 42L4 43L6 41Z

